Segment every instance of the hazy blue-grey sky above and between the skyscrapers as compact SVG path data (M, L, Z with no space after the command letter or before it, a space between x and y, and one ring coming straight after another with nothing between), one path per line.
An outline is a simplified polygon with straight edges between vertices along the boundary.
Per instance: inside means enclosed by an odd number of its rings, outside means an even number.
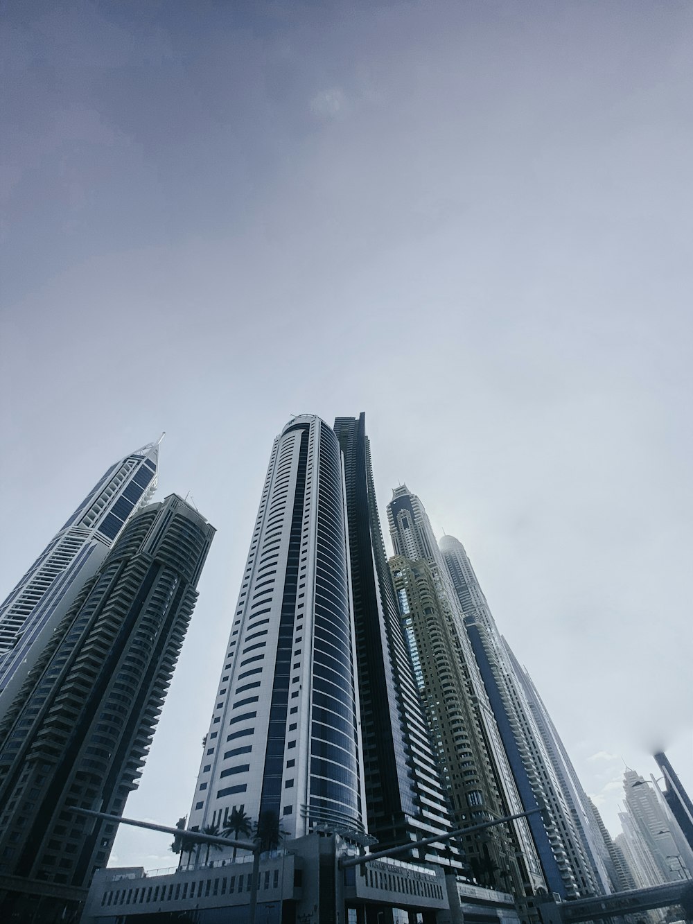
M188 812L274 435L367 414L613 833L690 703L693 6L5 5L0 599L116 458L218 529L130 816ZM175 865L123 832L111 862Z

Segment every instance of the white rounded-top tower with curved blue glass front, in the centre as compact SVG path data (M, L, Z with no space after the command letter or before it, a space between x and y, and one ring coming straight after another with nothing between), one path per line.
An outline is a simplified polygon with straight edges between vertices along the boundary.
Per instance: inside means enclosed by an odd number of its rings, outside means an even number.
M188 827L236 808L290 837L362 833L342 459L317 417L274 441L230 622Z

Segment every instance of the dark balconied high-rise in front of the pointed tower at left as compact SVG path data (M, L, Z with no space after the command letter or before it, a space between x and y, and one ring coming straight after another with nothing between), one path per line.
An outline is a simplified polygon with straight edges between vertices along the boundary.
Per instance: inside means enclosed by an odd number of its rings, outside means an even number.
M116 825L72 808L137 786L213 532L176 495L131 517L0 723L3 920L71 919L105 865Z

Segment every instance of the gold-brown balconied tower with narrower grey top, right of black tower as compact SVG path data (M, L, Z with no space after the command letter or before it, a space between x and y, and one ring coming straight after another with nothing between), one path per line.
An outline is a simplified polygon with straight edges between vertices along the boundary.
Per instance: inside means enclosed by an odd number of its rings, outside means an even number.
M524 809L426 511L401 485L387 512L399 610L456 824L517 814ZM545 889L524 819L469 836L465 848L478 881L505 888L520 901Z

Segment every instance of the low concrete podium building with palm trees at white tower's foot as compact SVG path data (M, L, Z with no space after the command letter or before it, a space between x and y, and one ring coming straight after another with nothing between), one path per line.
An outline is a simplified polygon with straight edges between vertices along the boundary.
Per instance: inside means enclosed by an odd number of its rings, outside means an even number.
M510 894L392 857L342 869L355 855L334 834L309 834L262 855L258 924L518 924ZM152 873L102 869L82 924L247 924L251 887L251 857Z

